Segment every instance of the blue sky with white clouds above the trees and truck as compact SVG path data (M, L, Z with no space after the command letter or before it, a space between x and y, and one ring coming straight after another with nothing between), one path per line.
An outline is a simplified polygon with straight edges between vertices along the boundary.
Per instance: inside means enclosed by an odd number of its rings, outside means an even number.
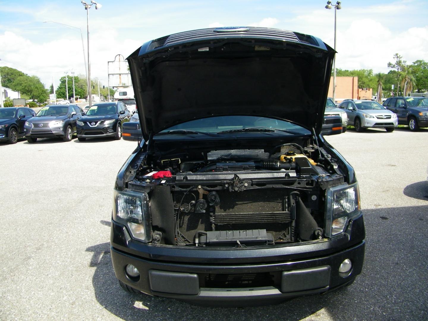
M272 27L317 36L334 45L334 9L324 8L327 1L99 3L99 10L89 9L91 78L105 85L107 61L117 54L126 58L144 42L181 31ZM342 9L337 10L336 68L388 72L387 63L395 53L407 63L428 61L427 17L428 0L342 1ZM79 0L0 0L0 66L34 74L47 88L52 81L58 86L66 72L85 74L80 28L86 53L86 10Z

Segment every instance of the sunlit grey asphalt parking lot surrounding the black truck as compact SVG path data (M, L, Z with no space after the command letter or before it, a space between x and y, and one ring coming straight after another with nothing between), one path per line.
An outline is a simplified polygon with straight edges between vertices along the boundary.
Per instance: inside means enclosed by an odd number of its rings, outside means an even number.
M136 143L0 143L0 319L426 320L428 130L349 130L326 140L359 180L363 273L348 288L249 308L119 287L109 250L113 184Z

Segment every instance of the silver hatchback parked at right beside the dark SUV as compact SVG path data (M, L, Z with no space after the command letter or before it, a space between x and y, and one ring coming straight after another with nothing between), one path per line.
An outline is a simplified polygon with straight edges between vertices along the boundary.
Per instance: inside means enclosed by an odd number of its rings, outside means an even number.
M348 114L348 124L354 125L358 132L366 128L385 128L391 132L398 127L397 115L376 101L346 100L339 104L339 108L345 110Z

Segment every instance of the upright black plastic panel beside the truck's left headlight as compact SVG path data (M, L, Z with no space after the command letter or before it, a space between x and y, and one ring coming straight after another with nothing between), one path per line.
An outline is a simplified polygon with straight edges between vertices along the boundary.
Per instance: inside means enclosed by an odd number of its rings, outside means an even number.
M174 203L171 187L155 186L149 197L153 230L163 232L165 244L175 245Z

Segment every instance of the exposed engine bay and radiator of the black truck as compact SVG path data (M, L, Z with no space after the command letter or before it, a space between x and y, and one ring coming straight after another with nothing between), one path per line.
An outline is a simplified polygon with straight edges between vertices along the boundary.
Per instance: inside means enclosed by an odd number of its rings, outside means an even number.
M316 144L149 150L128 189L150 199L152 244L257 247L324 238L325 189L344 182Z

